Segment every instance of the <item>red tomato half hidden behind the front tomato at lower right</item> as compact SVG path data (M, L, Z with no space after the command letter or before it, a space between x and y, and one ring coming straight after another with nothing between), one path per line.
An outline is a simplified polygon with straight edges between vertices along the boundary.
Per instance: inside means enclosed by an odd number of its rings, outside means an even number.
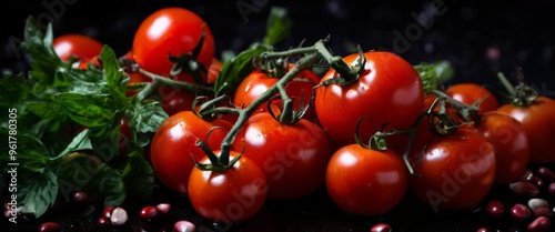
M522 124L512 117L488 111L472 125L495 148L495 183L515 182L529 161L529 142Z

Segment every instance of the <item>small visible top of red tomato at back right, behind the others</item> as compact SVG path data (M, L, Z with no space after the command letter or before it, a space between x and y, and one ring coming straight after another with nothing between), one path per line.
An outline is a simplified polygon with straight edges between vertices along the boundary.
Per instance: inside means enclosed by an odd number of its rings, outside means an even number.
M483 100L478 104L478 112L497 110L500 102L495 95L486 88L475 83L457 83L448 87L445 93L465 104L474 104L477 100Z

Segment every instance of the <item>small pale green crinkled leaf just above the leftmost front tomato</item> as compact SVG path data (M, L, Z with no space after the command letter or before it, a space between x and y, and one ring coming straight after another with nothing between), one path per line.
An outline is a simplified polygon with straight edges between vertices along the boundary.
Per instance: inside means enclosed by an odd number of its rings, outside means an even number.
M129 128L134 128L141 133L157 132L160 124L169 117L158 101L137 102L132 110Z

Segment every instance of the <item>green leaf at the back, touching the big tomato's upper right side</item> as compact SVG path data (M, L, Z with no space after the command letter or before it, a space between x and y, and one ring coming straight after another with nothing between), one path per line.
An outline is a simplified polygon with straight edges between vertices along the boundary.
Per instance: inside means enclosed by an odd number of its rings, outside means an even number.
M435 90L438 84L444 83L454 75L453 65L446 60L434 63L422 62L414 65L414 69L422 79L424 93Z

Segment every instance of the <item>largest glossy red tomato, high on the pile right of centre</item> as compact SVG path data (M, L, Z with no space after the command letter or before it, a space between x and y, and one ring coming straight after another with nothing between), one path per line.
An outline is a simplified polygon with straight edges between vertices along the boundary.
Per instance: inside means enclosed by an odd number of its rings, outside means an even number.
M401 57L383 51L364 53L366 63L359 80L346 85L330 84L316 89L315 107L320 123L339 145L354 143L356 124L367 141L385 123L394 129L408 129L422 111L424 90L414 68ZM356 65L359 53L343 60ZM331 69L321 83L337 78Z

